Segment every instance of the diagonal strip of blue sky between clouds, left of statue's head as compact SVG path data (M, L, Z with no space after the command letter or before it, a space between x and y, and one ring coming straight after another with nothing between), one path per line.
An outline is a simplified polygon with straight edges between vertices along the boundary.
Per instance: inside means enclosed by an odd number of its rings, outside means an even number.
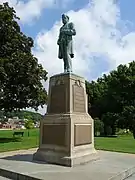
M27 0L28 1L28 0ZM26 34L32 36L33 38L36 37L37 33L41 29L50 29L55 21L59 20L61 17L61 14L63 12L68 12L70 10L77 11L87 5L89 3L89 0L74 0L72 4L69 4L67 7L64 8L54 8L54 9L44 9L42 12L42 16L36 21L33 22L32 25L24 24L21 25L23 32ZM32 28L34 28L32 30Z

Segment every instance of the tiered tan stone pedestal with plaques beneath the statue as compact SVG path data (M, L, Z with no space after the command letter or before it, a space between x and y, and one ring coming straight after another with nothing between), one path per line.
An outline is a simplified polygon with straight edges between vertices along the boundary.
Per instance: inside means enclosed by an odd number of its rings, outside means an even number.
M47 113L41 120L34 160L71 167L97 159L87 104L84 78L70 73L50 78Z

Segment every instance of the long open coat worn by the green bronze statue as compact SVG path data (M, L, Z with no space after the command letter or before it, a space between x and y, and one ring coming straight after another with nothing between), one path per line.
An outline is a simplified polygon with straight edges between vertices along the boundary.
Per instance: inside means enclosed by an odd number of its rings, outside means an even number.
M59 59L67 58L68 55L70 55L71 58L74 57L72 36L75 35L76 30L72 22L63 25L60 28L59 38L57 42L57 44L59 45Z

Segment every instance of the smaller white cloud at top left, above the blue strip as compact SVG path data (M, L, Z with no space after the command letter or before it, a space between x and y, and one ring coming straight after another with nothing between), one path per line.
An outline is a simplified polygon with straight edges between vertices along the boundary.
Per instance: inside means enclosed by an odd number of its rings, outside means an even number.
M27 2L23 0L0 0L0 4L4 2L8 2L10 6L15 8L22 23L29 23L33 19L39 18L44 9L66 7L73 0L28 0Z

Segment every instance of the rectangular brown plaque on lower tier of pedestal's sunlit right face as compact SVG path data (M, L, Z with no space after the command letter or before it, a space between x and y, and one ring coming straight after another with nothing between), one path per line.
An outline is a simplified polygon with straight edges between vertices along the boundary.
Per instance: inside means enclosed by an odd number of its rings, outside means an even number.
M87 145L92 143L92 126L86 125L75 125L74 126L74 145Z

